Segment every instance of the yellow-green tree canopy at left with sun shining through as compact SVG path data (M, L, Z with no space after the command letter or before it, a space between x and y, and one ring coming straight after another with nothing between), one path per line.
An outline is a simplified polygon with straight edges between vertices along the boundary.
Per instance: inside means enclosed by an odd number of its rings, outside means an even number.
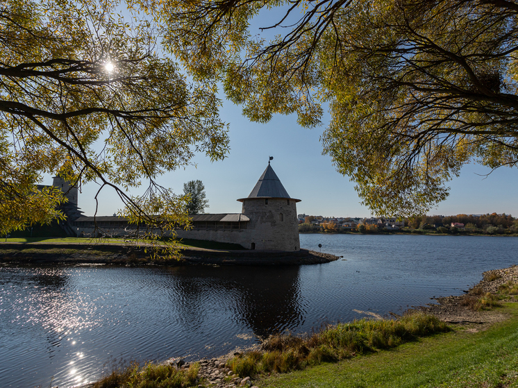
M228 151L215 87L188 83L155 52L149 22L125 22L118 5L0 3L1 233L60 217L61 194L35 189L44 173L112 187L131 220L172 228L186 221L183 197L156 178ZM126 192L142 181L143 196Z

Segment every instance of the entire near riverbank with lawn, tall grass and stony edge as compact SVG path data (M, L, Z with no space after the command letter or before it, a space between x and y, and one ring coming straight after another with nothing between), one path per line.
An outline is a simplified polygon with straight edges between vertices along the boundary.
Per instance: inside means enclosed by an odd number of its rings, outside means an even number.
M133 364L93 387L517 387L517 294L518 267L487 271L438 307L274 335L219 359Z

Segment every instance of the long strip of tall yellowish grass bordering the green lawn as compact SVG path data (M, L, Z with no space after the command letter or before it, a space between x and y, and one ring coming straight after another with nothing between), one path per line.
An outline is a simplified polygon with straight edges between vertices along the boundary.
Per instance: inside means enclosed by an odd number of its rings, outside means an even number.
M396 320L361 319L327 326L307 337L270 336L262 345L262 351L244 353L229 360L226 365L242 377L272 371L285 373L376 349L393 348L417 337L446 331L449 331L446 323L422 312L407 314Z

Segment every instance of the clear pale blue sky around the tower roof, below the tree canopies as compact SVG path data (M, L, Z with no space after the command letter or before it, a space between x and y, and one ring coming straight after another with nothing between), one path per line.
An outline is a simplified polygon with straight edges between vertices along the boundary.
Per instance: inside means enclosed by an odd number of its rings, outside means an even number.
M224 101L221 110L224 121L230 124L231 139L228 158L210 162L197 155L190 166L172 171L158 179L177 194L183 192L183 183L201 180L206 188L209 213L240 212L236 200L248 196L262 171L273 156L271 167L287 192L296 199L297 212L324 217L370 217L370 210L360 204L349 178L337 173L326 155L321 155L319 137L330 117L326 113L321 127L301 128L296 117L274 116L267 124L252 123L241 115L239 107ZM518 169L502 167L487 178L490 169L481 165L465 166L458 178L453 179L450 196L428 214L486 214L502 213L518 216ZM477 175L478 174L478 175ZM50 184L46 176L45 184ZM47 182L49 180L49 182ZM81 188L78 206L85 215L93 215L94 196L99 186L90 183ZM145 189L132 194L142 194ZM99 195L98 215L111 215L122 207L113 191L103 189Z

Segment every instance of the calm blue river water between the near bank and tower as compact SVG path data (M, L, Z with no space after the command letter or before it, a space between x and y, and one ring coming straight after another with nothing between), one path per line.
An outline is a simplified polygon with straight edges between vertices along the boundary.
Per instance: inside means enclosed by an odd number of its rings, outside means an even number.
M222 355L273 332L433 303L462 294L483 271L518 264L515 237L301 235L303 248L318 244L344 258L301 267L0 267L2 386L79 385L114 358Z

